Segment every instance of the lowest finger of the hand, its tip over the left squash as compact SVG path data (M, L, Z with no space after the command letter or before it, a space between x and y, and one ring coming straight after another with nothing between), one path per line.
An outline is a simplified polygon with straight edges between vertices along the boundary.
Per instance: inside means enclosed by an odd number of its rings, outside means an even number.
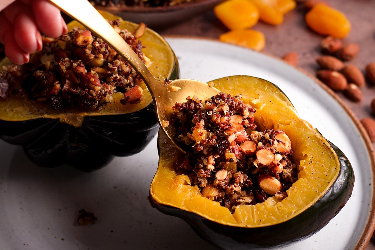
M14 39L14 30L8 28L4 35L4 51L5 55L15 64L28 63L30 60L30 55L23 51L23 49L18 46L16 40Z

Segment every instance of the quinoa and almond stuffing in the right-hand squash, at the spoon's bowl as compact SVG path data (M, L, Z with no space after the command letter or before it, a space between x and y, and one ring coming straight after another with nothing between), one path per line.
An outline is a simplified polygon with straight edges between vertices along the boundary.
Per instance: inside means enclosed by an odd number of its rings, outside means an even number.
M173 167L189 176L203 196L228 208L287 197L298 179L291 141L282 130L258 131L255 109L220 93L204 103L196 96L176 103L178 140L192 148Z

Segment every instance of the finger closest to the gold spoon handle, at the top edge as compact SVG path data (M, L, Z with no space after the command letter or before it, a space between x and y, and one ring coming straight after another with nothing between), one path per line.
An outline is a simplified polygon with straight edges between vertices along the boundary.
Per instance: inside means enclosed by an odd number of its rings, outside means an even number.
M31 2L39 30L49 37L58 37L68 32L68 27L61 16L60 10L46 0Z

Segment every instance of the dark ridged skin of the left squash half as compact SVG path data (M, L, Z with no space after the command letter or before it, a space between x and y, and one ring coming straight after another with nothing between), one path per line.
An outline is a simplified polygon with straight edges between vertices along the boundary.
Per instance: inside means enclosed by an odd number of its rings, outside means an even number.
M169 79L177 79L179 74L175 58ZM153 102L133 113L87 116L81 127L50 118L0 120L0 127L0 139L22 145L36 165L52 168L67 164L85 172L104 167L115 156L139 153L159 128Z

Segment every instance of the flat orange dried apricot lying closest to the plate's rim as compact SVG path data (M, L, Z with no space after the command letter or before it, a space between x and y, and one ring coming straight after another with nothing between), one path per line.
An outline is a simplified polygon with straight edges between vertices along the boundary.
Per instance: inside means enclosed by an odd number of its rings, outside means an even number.
M261 51L266 45L266 37L257 30L231 30L221 34L219 40L245 46L255 51Z

